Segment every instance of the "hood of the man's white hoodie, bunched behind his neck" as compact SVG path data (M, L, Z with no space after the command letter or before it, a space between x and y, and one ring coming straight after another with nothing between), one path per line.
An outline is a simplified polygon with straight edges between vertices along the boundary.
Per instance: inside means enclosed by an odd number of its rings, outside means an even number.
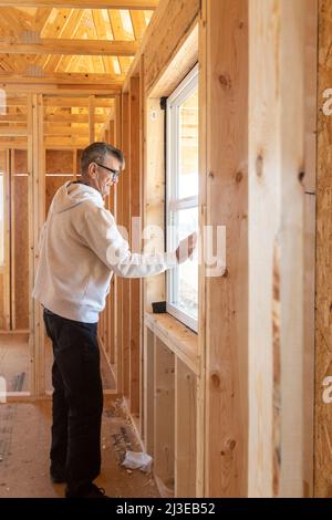
M50 211L62 214L86 200L93 200L96 206L104 207L103 197L96 189L82 183L69 180L55 193Z

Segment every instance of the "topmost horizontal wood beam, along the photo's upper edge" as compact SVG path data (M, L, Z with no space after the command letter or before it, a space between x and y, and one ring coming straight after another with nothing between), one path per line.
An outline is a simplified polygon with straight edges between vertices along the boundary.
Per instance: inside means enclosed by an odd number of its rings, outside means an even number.
M159 0L8 0L1 7L63 8L63 9L155 9Z

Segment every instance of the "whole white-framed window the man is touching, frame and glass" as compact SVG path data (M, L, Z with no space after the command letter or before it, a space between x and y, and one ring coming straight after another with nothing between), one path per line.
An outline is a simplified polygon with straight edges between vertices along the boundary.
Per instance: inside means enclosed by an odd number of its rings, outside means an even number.
M167 248L198 229L198 66L167 100ZM197 332L198 261L167 272L167 312Z

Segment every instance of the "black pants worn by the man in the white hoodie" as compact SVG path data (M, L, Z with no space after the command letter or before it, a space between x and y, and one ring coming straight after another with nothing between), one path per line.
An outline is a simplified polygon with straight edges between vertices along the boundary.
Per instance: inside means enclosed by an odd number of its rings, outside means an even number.
M84 492L101 469L103 387L96 323L44 311L53 343L51 468L64 471L68 489Z

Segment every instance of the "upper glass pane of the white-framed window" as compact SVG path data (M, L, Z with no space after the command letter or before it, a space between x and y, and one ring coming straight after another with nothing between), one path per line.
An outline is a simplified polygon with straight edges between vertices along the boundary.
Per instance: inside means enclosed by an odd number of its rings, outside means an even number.
M198 195L198 89L179 106L179 198Z

